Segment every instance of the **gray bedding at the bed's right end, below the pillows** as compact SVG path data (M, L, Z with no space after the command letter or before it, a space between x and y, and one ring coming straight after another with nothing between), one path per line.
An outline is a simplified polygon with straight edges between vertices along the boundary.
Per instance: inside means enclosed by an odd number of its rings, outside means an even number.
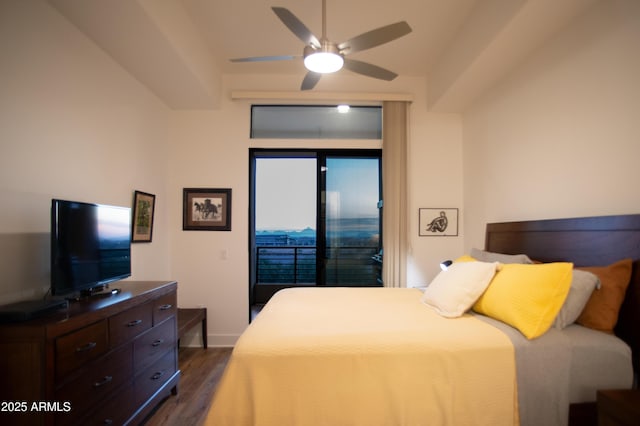
M569 404L595 401L597 389L633 386L631 348L614 335L574 324L527 340L500 321L473 315L513 343L522 426L565 426Z

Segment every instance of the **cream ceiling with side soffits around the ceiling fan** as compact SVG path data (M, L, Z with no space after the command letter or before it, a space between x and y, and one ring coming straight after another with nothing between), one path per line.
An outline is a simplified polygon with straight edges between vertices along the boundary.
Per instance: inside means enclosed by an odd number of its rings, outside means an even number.
M301 60L228 60L302 54L303 43L272 6L289 9L318 38L322 33L321 0L48 1L175 109L215 108L223 74L291 75L290 90L298 90ZM409 35L351 58L424 77L431 109L461 111L595 1L327 0L327 36L341 42L407 21Z

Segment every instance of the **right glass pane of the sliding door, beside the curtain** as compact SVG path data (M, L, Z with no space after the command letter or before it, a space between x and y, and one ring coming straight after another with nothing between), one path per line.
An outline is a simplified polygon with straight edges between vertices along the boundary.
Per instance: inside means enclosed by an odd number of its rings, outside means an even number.
M378 158L327 157L326 284L379 285L371 257L379 250Z

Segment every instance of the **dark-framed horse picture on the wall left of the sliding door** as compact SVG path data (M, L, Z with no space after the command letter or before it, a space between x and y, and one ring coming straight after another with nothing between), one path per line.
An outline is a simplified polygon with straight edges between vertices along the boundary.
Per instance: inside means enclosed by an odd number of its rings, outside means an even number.
M182 229L231 231L230 188L184 188Z

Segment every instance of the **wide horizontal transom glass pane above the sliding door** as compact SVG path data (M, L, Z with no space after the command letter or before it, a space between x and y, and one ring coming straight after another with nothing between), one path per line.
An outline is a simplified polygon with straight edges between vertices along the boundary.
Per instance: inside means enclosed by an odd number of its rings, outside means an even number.
M254 105L251 137L265 139L381 139L382 108Z

